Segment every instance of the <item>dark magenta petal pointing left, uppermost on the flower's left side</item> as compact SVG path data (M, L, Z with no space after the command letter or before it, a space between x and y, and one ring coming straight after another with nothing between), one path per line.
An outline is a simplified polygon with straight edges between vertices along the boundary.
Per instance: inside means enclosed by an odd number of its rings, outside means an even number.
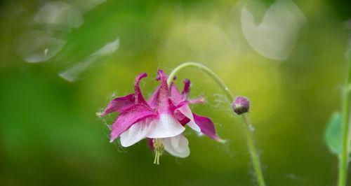
M134 94L128 94L126 96L117 97L112 99L112 101L107 106L104 113L101 116L107 115L109 113L119 112L121 113L123 110L134 105Z

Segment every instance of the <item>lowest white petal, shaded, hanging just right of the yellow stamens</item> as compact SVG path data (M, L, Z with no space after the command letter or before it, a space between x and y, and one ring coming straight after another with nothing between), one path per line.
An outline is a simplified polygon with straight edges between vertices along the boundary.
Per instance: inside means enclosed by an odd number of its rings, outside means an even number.
M164 150L175 157L188 157L190 155L189 141L183 135L164 138Z

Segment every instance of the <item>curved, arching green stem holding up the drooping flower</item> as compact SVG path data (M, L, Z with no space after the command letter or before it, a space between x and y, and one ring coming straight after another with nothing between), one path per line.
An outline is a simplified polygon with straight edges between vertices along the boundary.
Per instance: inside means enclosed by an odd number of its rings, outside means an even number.
M168 86L171 85L173 77L176 76L176 73L178 73L178 71L180 71L181 69L184 69L185 67L194 67L194 68L200 69L204 73L207 73L208 76L213 78L213 80L215 80L216 83L223 89L223 91L225 92L225 95L227 96L227 99L229 99L230 101L234 101L234 99L235 99L234 94L223 83L223 81L217 76L217 74L214 73L213 71L211 71L211 69L208 69L207 66L204 66L204 65L199 64L199 63L186 62L186 63L180 64L179 66L177 66L176 69L173 69L171 74L168 76L168 80L167 80ZM241 117L242 124L244 126L244 132L245 132L246 138L247 138L247 146L249 148L249 152L251 155L253 169L255 170L255 173L256 173L258 185L265 186L265 180L263 179L263 173L262 173L261 167L260 167L260 160L258 158L256 147L255 147L255 144L253 141L253 134L251 133L251 130L250 130L250 123L248 122L245 114L239 115L239 116Z

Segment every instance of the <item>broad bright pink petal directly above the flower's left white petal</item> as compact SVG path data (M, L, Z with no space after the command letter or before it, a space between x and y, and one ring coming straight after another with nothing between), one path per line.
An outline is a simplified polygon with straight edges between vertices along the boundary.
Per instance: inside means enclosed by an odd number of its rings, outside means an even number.
M117 120L112 124L111 142L118 138L124 131L129 129L133 124L146 118L156 117L156 113L149 107L143 104L135 104L124 110Z

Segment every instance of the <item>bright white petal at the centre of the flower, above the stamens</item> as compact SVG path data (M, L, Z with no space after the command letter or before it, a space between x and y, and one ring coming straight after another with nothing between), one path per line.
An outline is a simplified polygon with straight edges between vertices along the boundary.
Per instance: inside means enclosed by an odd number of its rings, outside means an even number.
M162 114L158 120L153 120L150 124L148 138L168 138L182 134L185 130L180 122L171 115Z

